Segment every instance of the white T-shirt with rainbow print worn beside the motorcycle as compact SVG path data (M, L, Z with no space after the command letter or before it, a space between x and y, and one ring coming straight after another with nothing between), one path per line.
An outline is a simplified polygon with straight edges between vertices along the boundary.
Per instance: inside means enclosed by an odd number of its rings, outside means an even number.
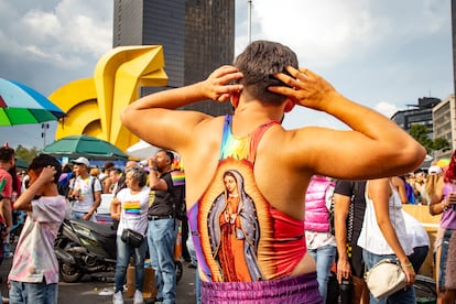
M132 229L145 236L148 229L148 208L150 188L144 186L137 194L131 194L130 188L123 188L117 194L122 211L120 215L117 235L121 236L123 229Z

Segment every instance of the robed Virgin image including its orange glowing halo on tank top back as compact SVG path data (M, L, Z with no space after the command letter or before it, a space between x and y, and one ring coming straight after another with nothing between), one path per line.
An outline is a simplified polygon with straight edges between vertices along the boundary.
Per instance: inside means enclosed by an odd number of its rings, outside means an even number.
M202 254L202 280L257 282L280 278L286 271L271 259L287 245L274 241L274 209L260 193L250 162L234 158L220 161L197 210L193 210L197 211L195 249Z

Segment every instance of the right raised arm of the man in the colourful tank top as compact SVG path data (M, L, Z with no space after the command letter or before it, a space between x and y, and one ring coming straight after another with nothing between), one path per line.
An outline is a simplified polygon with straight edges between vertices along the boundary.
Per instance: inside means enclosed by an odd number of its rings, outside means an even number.
M301 160L301 169L333 177L367 180L404 174L422 163L425 149L393 121L347 99L308 69L287 70L292 76L280 73L275 77L290 87L270 87L271 91L287 96L298 106L324 111L351 128L301 128L290 132L289 156Z

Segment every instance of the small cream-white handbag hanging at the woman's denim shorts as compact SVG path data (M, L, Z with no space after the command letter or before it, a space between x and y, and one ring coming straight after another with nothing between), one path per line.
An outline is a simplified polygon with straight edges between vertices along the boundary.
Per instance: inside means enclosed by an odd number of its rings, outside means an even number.
M406 286L406 276L400 264L383 259L365 273L365 281L374 297L389 296Z

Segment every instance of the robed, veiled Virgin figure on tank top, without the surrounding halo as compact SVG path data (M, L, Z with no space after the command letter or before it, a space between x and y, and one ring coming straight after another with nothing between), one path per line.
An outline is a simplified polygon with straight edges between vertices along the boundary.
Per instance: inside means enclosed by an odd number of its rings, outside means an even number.
M222 183L224 192L208 215L213 257L226 282L261 280L257 262L260 229L254 203L245 192L238 171L226 171Z

